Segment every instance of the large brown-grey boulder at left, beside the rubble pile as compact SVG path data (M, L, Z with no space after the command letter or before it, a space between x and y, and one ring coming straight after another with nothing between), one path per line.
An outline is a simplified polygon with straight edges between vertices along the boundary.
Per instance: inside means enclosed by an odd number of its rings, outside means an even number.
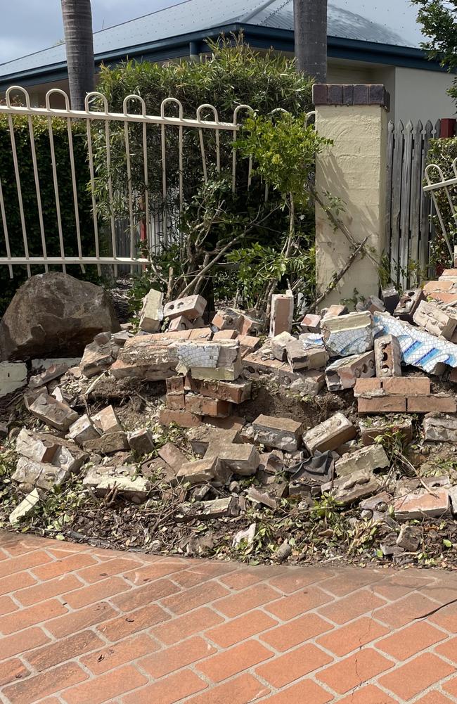
M119 329L104 289L60 272L39 274L16 291L0 322L0 361L75 357L99 332Z

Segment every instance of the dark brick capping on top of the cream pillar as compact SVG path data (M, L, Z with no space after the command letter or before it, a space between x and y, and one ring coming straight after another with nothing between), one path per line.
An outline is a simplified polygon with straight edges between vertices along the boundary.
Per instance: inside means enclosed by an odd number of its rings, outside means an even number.
M390 94L380 83L342 85L315 83L313 103L321 105L379 105L390 110Z

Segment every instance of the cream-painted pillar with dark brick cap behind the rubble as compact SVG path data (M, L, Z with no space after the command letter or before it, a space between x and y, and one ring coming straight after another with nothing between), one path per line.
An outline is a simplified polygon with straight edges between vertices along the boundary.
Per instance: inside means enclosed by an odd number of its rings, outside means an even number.
M334 144L316 158L316 189L344 201L339 218L354 240L368 237L371 256L359 256L342 277L326 304L352 298L354 289L368 297L379 290L384 251L387 182L387 112L389 94L383 85L329 85L313 87L315 126ZM325 290L342 270L353 248L334 230L322 208L316 206L316 282Z

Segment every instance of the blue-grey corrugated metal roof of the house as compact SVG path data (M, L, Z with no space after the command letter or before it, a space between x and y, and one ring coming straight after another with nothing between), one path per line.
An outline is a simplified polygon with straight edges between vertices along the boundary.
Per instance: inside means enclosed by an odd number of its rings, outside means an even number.
M399 6L408 4L408 1L379 1L382 6L378 10L371 1L367 5L363 0L333 0L328 7L329 36L374 44L417 47L420 41L417 32L414 36L411 27L408 27L408 31L403 31L401 36L395 27L399 23ZM392 6L389 25L385 21L375 21L377 15L380 15L381 20L389 18L389 6ZM364 15L353 12L356 8L360 8ZM406 10L400 10L401 13L405 14ZM411 15L408 22L411 23ZM163 42L168 37L205 32L212 27L234 23L293 31L293 0L184 0L177 5L95 32L94 54L99 59L122 49L127 54L127 50L132 50L135 46ZM407 25L408 23L405 26ZM25 72L39 73L42 67L65 63L65 45L60 44L1 64L0 77Z

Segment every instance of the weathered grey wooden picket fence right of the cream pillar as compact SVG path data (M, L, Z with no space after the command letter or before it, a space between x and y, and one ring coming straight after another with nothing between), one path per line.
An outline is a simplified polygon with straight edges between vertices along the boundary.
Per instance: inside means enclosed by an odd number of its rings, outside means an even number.
M430 243L434 228L432 201L422 190L430 140L439 137L440 120L389 122L387 141L386 243L392 281L406 288L418 274L430 277Z

